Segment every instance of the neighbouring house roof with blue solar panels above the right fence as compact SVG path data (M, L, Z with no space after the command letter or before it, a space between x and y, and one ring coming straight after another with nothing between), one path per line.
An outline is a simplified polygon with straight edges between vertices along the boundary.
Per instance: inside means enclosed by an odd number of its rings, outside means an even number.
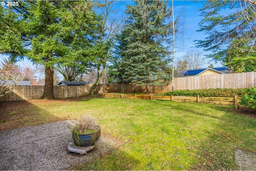
M196 76L196 75L199 75L201 74L202 72L208 70L208 69L211 69L211 70L214 70L216 72L221 72L221 74L224 74L224 73L230 73L231 71L228 71L227 70L227 67L226 66L223 66L223 67L215 67L215 68L201 68L201 69L194 69L194 70L182 70L182 71L178 71L177 74L178 76L177 77L188 77L188 76Z

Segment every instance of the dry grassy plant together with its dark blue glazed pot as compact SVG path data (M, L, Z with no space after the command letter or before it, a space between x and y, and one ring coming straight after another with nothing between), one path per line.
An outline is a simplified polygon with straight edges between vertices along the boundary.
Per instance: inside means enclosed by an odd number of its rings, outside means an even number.
M100 130L100 126L95 124L95 119L91 115L81 115L71 129L74 145L81 147L93 145L100 137Z

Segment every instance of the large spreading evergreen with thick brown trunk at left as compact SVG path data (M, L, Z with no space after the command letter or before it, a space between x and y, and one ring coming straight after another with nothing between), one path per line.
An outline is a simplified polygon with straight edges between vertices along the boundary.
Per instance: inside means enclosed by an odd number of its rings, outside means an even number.
M0 7L4 11L0 18L4 23L0 26L4 29L0 42L5 42L0 50L12 57L28 56L44 65L42 98L52 99L55 64L68 66L74 60L84 63L92 60L90 38L98 22L91 10L93 4L86 1L19 1L19 4L4 10Z

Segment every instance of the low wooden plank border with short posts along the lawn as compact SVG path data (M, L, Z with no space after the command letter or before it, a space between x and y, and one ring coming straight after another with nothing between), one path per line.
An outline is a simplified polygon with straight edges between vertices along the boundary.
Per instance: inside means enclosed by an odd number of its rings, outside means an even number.
M193 96L174 96L174 95L138 95L138 94L118 94L118 93L104 93L106 98L121 98L121 99L145 99L145 100L169 100L177 102L193 102L193 103L210 103L219 105L235 105L236 109L252 109L251 107L244 107L240 105L239 99L236 95L234 97L197 97Z

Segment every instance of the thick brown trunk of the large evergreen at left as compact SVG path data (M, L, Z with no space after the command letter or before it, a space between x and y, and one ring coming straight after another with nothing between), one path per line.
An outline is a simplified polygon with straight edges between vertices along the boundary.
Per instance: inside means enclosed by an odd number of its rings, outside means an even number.
M44 93L41 97L42 99L53 99L53 68L45 68L45 84L44 84Z

